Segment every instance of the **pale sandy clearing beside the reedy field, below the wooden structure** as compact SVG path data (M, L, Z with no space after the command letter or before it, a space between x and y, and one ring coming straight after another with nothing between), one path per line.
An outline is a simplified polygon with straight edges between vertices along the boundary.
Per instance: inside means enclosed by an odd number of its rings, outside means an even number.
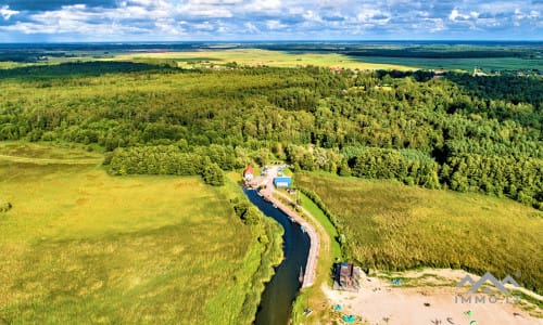
M467 273L457 270L425 270L401 273L403 277L417 277L426 273L456 281ZM400 273L399 273L400 274ZM471 275L478 278L476 275ZM365 324L390 325L543 325L512 303L498 299L495 303L462 302L457 295L466 296L467 288L452 286L392 286L388 280L365 277L359 292L345 292L324 286L330 306L340 304L342 314L361 316ZM481 296L481 295L478 295ZM488 298L488 296L487 296ZM429 303L429 306L425 306ZM466 314L471 311L471 316ZM388 320L388 322L387 322ZM476 321L476 323L471 323Z

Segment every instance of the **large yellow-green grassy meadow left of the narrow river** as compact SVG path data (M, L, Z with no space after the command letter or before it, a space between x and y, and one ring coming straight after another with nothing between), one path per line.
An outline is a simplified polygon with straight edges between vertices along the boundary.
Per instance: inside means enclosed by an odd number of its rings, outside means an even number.
M0 154L29 147L42 158L94 156L13 143ZM235 216L237 195L231 182L0 157L0 199L13 205L0 213L0 323L250 323L272 272L261 261L280 247Z

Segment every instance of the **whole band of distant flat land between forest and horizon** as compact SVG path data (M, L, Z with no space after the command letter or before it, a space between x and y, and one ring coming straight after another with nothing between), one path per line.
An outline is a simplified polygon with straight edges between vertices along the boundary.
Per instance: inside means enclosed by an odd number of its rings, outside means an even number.
M43 60L46 56L47 60ZM439 58L438 58L439 57ZM361 69L543 70L541 42L338 42L223 44L58 44L0 51L0 68L65 62L129 60L172 63L180 67L209 67L237 62L243 65L294 67L342 66ZM13 62L15 61L15 62Z

